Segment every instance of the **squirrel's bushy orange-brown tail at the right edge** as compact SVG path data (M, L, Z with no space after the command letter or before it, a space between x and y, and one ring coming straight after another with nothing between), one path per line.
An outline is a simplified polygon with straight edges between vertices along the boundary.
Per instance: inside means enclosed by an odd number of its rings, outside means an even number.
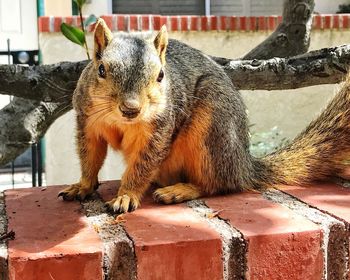
M350 78L292 143L255 160L253 166L257 188L345 177L350 168Z

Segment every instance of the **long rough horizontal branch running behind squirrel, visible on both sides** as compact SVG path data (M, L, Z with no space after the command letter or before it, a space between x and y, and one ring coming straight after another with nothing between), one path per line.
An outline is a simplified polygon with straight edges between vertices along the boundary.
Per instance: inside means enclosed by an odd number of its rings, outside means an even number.
M36 67L1 65L1 71L6 75L12 74L9 82L0 73L0 94L37 101L44 98L46 102L49 100L63 104L71 102L76 82L86 63L87 61L62 62ZM265 90L339 83L349 66L350 45L311 51L290 58L226 60L222 65L237 89ZM34 93L29 89L32 77L40 77Z

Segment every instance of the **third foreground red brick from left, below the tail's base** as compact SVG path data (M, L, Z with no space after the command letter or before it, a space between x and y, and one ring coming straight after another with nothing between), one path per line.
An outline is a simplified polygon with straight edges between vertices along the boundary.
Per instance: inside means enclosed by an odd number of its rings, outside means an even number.
M260 194L205 199L248 242L248 279L322 279L322 231Z

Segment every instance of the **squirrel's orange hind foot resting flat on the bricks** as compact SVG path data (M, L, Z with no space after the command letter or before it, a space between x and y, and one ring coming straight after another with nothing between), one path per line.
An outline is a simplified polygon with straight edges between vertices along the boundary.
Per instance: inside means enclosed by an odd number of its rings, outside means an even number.
M199 187L189 183L178 183L154 191L153 198L158 203L173 204L203 196Z

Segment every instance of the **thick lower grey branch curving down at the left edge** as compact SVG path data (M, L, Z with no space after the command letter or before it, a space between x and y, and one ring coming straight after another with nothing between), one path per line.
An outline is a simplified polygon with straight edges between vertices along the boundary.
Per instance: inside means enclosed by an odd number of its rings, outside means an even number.
M71 103L45 103L15 97L0 110L0 166L14 160L44 136Z

